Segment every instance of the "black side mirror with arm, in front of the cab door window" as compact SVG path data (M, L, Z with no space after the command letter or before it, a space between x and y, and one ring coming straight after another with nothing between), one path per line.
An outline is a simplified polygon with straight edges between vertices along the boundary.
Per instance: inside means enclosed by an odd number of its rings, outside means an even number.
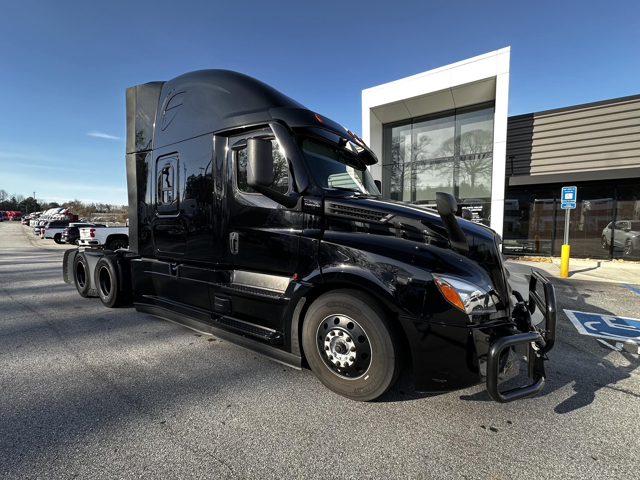
M273 149L271 140L248 138L246 140L246 182L258 193L271 198L283 207L292 209L298 205L299 195L283 195L271 189L273 184Z

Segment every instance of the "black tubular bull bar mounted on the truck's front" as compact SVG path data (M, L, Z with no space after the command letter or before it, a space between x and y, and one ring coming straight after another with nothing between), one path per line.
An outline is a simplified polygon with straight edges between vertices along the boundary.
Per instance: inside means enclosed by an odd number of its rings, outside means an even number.
M540 296L538 282L543 287L545 298ZM516 303L513 316L518 330L523 333L501 337L492 342L487 354L486 390L499 403L507 403L523 397L535 395L545 386L545 354L556 343L556 293L554 285L545 276L534 271L529 280L529 301L525 301L520 293L514 291ZM541 330L531 325L531 314L536 311L536 305L545 317L545 328ZM498 374L500 369L500 354L504 349L513 347L517 353L527 356L530 385L513 388L500 392L498 388Z

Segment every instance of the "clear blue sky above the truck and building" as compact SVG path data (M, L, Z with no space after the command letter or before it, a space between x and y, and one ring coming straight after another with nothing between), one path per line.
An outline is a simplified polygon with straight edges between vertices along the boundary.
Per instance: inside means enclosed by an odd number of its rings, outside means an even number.
M511 45L509 115L640 93L640 2L4 3L0 189L127 202L125 88L200 68L361 133L362 89Z

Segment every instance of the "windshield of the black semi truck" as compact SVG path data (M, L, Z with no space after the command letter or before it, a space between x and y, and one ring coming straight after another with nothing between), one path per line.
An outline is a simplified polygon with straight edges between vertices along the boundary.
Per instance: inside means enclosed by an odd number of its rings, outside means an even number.
M309 137L301 138L300 146L311 175L320 188L380 196L367 166L346 148Z

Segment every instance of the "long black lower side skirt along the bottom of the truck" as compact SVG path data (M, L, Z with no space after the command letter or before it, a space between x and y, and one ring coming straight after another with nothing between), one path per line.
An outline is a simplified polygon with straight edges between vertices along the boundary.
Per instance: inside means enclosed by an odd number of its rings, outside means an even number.
M136 307L136 310L138 310L138 312L150 314L154 317L159 317L163 320L168 320L170 322L186 326L187 328L191 328L191 330L195 330L198 333L212 335L212 337L216 339L225 340L225 342L229 342L246 350L252 351L253 353L257 353L258 355L270 358L271 360L275 360L276 362L287 365L288 367L292 367L298 370L302 369L302 358L298 355L294 355L270 345L262 344L255 340L243 337L242 335L236 335L235 333L227 332L227 330L222 330L221 328L217 328L216 326L202 323L196 319L177 314L176 312L172 312L172 310L167 310L163 307L157 307L157 305L134 303L134 306Z

